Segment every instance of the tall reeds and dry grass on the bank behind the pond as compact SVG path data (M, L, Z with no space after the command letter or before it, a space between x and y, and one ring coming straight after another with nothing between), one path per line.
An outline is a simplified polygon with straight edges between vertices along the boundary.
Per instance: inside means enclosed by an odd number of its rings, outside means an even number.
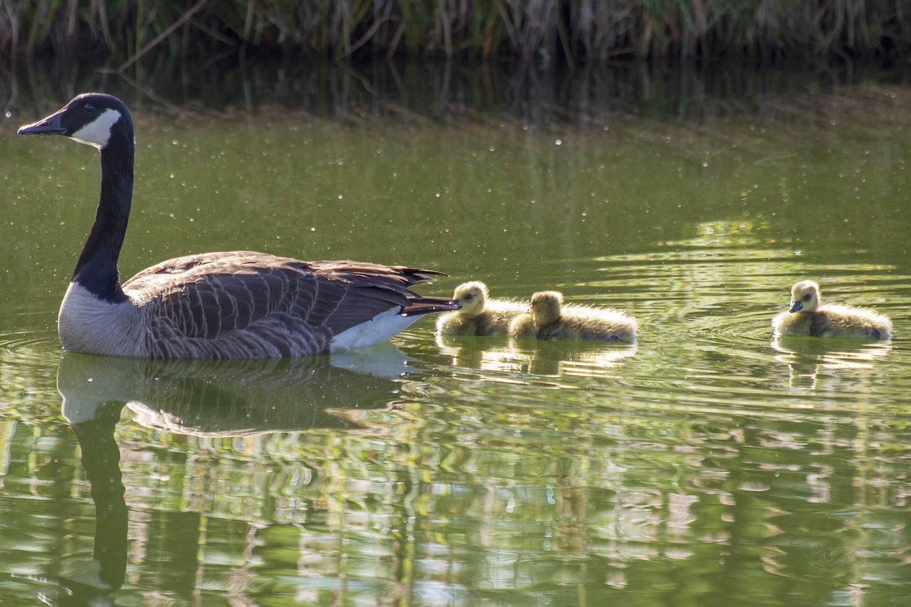
M0 0L9 57L911 57L911 0Z

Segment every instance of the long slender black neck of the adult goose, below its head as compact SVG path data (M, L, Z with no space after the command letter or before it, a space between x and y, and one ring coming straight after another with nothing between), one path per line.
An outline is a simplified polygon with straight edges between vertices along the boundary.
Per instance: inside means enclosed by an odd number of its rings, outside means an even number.
M112 303L127 300L120 288L117 262L133 198L135 152L132 129L126 126L114 129L101 149L101 194L95 222L73 272L73 282Z

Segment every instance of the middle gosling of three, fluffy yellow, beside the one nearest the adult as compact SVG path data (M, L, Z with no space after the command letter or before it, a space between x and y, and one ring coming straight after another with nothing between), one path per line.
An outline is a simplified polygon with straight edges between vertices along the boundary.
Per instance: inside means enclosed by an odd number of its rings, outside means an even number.
M531 296L531 311L509 326L513 337L635 342L636 319L619 310L564 305L563 294L541 291Z

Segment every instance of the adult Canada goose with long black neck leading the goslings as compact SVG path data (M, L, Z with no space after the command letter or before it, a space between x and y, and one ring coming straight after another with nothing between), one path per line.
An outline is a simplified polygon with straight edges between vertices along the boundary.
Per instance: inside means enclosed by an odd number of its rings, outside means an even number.
M118 98L80 95L20 135L101 151L101 194L57 329L65 350L152 358L319 355L389 339L422 314L455 310L409 287L440 274L361 262L210 252L161 262L121 285L133 192L133 121Z

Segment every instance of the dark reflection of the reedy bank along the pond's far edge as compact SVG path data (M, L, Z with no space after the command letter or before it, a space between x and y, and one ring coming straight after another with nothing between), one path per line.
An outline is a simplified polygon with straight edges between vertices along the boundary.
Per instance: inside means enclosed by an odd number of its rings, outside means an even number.
M793 111L781 104L783 90L901 77L896 71L849 63L782 71L773 66L744 69L735 62L683 67L660 62L587 62L541 68L521 62L310 63L236 57L204 65L144 61L128 75L73 57L30 57L18 69L0 67L0 107L3 113L16 107L35 107L40 113L74 93L105 90L132 105L147 98L175 111L188 103L195 108L247 112L278 104L333 118L372 114L404 120L412 120L413 113L455 120L490 112L531 125L570 122L600 128L607 118L630 115L687 120L743 113L774 116ZM48 104L48 100L53 101ZM187 112L188 108L179 108L180 114ZM0 124L2 120L0 114Z

